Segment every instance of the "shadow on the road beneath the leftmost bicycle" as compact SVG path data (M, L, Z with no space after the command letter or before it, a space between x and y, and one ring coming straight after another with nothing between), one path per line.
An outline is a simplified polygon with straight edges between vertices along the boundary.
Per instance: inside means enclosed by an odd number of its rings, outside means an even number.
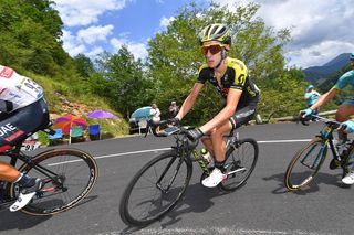
M98 197L97 195L86 196L74 207L79 207L80 205L86 204L92 200ZM65 213L65 212L62 212ZM29 229L31 227L41 224L55 215L43 215L43 216L33 216L29 214L24 214L21 212L10 212L9 207L0 207L0 234L1 232L11 231L11 229Z

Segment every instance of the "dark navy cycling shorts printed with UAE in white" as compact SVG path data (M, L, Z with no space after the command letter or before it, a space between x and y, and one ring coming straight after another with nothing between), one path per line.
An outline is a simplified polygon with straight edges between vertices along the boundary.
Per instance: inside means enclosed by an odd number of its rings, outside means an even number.
M44 98L10 114L2 113L0 147L15 146L38 130L48 127L49 120L49 111Z

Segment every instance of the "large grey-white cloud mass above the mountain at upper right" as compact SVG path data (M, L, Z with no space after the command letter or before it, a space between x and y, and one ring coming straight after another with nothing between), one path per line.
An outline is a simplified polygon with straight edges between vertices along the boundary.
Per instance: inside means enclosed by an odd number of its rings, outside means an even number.
M291 29L293 42L287 54L290 65L322 65L353 51L354 8L352 0L216 0L221 4L256 2L258 15L275 30Z

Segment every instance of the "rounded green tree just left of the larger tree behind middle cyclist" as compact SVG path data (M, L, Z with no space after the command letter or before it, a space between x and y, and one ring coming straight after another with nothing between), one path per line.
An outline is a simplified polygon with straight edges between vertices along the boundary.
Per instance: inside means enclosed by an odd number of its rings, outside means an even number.
M124 45L116 54L104 53L96 61L97 74L90 81L93 89L122 114L128 117L132 111L149 105L154 85L145 76L140 60Z

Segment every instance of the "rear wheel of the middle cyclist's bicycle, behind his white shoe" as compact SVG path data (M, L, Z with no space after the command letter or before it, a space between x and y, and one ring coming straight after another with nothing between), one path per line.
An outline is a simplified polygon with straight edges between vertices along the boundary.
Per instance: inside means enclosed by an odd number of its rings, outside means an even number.
M254 139L237 140L226 151L225 168L228 174L218 188L223 192L232 192L246 184L253 172L258 160L259 148Z

